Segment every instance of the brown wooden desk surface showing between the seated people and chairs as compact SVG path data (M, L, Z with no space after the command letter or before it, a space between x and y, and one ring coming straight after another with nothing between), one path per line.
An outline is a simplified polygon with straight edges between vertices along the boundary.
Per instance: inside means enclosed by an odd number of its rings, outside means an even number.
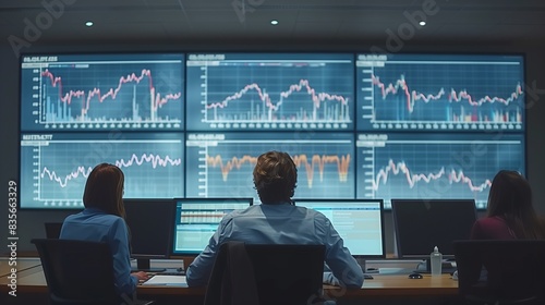
M344 290L339 286L324 285L324 293L331 298L349 297L403 297L403 296L438 296L457 295L458 282L449 274L432 277L424 274L423 279L411 280L407 274L374 274L373 280L365 280L362 289ZM8 277L0 278L0 291L9 291ZM34 266L17 272L19 293L47 293L46 280L41 266ZM165 285L140 285L138 294L145 295L204 295L203 288L180 288Z

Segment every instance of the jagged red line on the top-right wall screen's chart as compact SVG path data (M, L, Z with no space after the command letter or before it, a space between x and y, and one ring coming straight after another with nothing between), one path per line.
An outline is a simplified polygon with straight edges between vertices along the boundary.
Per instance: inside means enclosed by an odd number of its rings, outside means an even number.
M416 100L422 100L427 103L433 100L441 99L445 95L447 95L446 98L449 102L468 101L470 106L482 106L486 102L500 102L508 106L510 102L518 99L519 96L523 94L521 85L517 84L514 91L511 93L508 98L484 96L480 99L475 99L465 89L456 91L453 88L451 88L448 94L445 88L440 88L436 95L425 95L422 93L417 93L416 90L410 90L409 85L404 80L404 75L401 75L399 80L397 80L395 83L389 83L388 85L380 82L380 78L378 76L372 75L371 77L373 85L377 86L380 89L383 99L386 99L386 97L390 94L395 95L398 91L401 91L405 96L407 109L409 110L409 112L413 111Z

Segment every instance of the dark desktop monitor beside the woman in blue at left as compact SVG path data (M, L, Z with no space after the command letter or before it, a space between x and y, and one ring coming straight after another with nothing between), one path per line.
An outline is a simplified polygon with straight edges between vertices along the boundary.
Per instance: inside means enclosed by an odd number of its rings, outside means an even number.
M131 257L136 259L138 271L160 272L150 268L152 258L170 256L173 199L123 199L125 220L130 230Z

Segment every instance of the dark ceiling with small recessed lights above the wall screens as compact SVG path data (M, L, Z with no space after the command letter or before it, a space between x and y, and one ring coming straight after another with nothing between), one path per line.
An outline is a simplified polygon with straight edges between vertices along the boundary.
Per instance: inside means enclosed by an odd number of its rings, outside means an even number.
M49 4L45 4L49 3ZM425 19L421 27L416 20ZM93 27L86 27L86 21ZM271 20L279 24L272 26ZM37 29L33 32L34 29ZM2 0L4 39L545 40L543 0ZM37 33L39 32L39 33ZM4 40L5 41L5 40Z

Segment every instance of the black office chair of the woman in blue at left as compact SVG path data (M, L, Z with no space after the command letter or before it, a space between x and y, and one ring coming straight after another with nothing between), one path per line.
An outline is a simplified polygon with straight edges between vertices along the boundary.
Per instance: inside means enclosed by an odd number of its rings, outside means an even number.
M116 292L113 257L102 242L34 239L49 302L56 304L150 304Z

